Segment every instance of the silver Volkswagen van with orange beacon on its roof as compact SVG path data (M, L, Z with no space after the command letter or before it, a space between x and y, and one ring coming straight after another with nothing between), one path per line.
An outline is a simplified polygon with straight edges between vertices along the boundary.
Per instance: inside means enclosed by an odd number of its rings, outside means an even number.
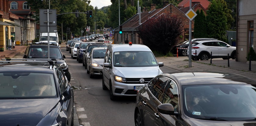
M155 76L163 72L152 51L140 44L109 45L102 71L102 88L109 89L110 99L116 96L136 96Z

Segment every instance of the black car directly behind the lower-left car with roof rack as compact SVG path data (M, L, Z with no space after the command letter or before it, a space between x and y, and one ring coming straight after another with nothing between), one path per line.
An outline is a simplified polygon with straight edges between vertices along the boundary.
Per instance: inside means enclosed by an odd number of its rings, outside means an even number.
M30 45L26 48L23 58L25 59L48 59L48 45L47 44L38 44L38 45ZM62 55L60 48L56 45L50 45L50 58L51 59L59 59L57 60L57 64L60 65L63 72L65 73L68 81L70 81L70 73L69 67L67 65L66 60L64 60L65 55Z

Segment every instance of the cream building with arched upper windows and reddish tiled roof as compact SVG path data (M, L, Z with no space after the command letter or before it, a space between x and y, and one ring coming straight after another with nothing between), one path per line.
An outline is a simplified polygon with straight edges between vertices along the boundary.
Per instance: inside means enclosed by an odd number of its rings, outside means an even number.
M9 0L10 12L19 16L14 20L20 27L15 27L15 40L24 44L35 39L35 22L33 13L26 0Z

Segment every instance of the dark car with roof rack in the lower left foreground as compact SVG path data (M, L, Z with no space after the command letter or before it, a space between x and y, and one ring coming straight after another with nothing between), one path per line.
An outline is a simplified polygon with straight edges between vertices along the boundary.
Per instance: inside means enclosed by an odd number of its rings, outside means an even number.
M1 61L0 78L1 126L73 126L73 89L56 61Z

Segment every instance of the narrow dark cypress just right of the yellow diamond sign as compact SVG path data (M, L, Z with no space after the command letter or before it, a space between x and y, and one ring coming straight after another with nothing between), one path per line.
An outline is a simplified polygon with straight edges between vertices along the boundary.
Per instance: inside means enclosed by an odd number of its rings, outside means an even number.
M197 10L197 16L194 18L194 38L206 38L206 24L205 24L205 16L204 12L201 9L201 12Z

